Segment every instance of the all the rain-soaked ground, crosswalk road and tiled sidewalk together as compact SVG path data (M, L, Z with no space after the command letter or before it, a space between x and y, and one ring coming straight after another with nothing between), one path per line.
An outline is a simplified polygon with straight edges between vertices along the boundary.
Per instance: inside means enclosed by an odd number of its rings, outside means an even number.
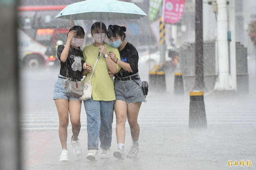
M86 115L81 111L80 143L82 157L76 157L71 145L71 125L68 126L69 161L60 162L58 114L52 100L58 70L21 72L21 148L23 169L256 169L256 74L249 73L250 94L236 96L205 96L207 129L189 129L189 96L173 94L174 77L167 81L166 93L150 92L142 104L140 152L136 158L117 160L115 116L111 157L88 162ZM143 79L143 77L142 77ZM33 84L29 80L35 80ZM37 90L40 89L40 90ZM83 105L83 104L82 104ZM125 153L132 139L126 123ZM232 161L232 167L228 161ZM244 160L244 166L239 161ZM246 166L251 160L252 166ZM238 161L238 166L234 162Z

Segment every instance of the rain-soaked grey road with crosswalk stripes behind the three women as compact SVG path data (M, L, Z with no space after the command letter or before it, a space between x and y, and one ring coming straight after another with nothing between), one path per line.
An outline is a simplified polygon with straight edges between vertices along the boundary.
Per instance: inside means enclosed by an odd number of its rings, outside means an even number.
M249 69L252 70L250 73L249 96L225 97L226 100L221 100L221 102L218 98L215 98L216 96L205 97L208 124L247 124L255 122L255 100L253 101L255 99L255 89L253 87L255 87L254 85L256 83L253 78L255 76L253 65L251 67L252 69ZM148 80L147 73L143 69L140 70L141 79ZM58 113L54 100L52 100L52 95L59 70L52 68L40 70L23 69L20 73L20 96L22 101L21 128L24 130L58 129ZM188 124L189 96L188 94L181 97L175 96L173 94L173 80L174 77L172 75L166 76L166 93L151 92L149 87L149 93L146 98L147 102L142 104L138 117L140 126ZM115 122L114 120L113 127L116 126ZM86 114L83 104L81 109L81 125L82 129L86 127ZM127 122L126 126L128 127ZM71 128L71 124L68 128Z

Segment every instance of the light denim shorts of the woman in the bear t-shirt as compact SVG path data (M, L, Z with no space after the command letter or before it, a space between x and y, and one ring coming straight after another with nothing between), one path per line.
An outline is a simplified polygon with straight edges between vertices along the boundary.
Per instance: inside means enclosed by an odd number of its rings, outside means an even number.
M59 76L63 77L62 75L59 75ZM65 78L65 77L63 77L63 78ZM81 100L79 100L78 97L75 97L75 96L67 93L69 80L67 80L67 87L66 87L66 89L64 89L64 81L65 80L66 79L61 79L58 77L58 79L54 85L53 100L54 99L67 99L67 100L77 100L77 101L81 102Z

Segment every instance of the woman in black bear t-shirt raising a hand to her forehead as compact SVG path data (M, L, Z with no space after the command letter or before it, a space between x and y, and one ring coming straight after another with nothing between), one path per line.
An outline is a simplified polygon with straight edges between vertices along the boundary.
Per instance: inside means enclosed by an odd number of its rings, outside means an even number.
M54 86L53 99L59 114L59 136L62 147L60 161L68 161L67 150L67 128L68 112L72 124L73 135L71 144L76 156L82 155L82 148L78 140L80 132L80 112L81 101L67 93L67 87L70 79L81 81L83 75L91 72L91 66L86 64L86 70L83 70L84 56L80 46L84 42L84 29L80 26L70 28L66 45L59 45L57 56L60 59L60 74ZM69 78L69 79L68 79Z

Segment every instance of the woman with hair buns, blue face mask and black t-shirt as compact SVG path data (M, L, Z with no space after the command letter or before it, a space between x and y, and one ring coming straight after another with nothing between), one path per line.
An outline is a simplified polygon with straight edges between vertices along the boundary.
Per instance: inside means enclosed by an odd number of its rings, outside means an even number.
M127 157L135 157L139 152L140 126L137 122L141 102L145 102L145 97L141 89L141 80L138 74L139 55L136 48L128 42L124 42L126 27L110 25L107 36L109 44L118 49L121 60L116 58L113 51L109 52L110 58L116 62L122 69L116 73L114 79L116 101L114 105L116 113L116 139L117 150L114 157L123 159L125 121L126 117L131 129L132 147ZM109 72L110 76L113 76Z

